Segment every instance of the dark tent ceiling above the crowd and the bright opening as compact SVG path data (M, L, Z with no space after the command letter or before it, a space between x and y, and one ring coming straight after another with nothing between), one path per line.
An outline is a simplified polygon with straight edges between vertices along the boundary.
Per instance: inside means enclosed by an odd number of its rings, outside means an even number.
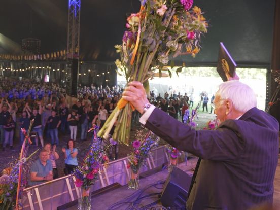
M224 42L239 66L270 66L273 0L194 0L194 5L205 12L210 27L196 58L180 56L178 64L216 65L219 42ZM3 1L0 53L18 53L21 40L31 37L41 39L41 53L66 49L67 6L67 0ZM81 8L81 58L113 62L118 58L114 45L121 42L126 15L138 11L139 1L81 0Z

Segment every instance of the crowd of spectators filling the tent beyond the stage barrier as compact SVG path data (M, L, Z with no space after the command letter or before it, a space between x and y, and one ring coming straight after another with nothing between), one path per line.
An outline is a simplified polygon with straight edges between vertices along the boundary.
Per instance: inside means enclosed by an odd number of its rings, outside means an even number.
M2 150L15 150L15 132L19 133L20 145L32 122L31 134L34 145L42 148L39 159L30 169L30 185L58 177L56 160L64 158L64 173L69 174L78 166L76 144L90 139L88 130L93 124L103 126L117 106L122 87L79 86L78 96L70 97L65 89L55 83L38 83L31 80L0 79L0 144ZM150 92L151 103L178 118L193 107L193 95L168 93L155 95ZM140 115L133 113L132 122L138 123ZM16 125L18 124L18 125ZM78 133L78 134L77 134ZM57 152L59 138L68 138L66 148ZM78 138L79 137L79 138ZM48 141L46 141L48 140ZM79 142L79 143L78 143ZM59 154L63 157L59 157ZM48 156L48 158L46 158ZM114 156L114 158L113 158ZM118 145L109 149L109 158L118 158Z

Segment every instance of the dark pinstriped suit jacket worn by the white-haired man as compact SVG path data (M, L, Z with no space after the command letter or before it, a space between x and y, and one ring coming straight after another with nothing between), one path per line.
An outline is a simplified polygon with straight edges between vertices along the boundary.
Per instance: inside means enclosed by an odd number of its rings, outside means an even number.
M194 130L155 109L145 125L172 146L202 161L187 209L248 209L271 202L278 162L276 119L252 108L217 130Z

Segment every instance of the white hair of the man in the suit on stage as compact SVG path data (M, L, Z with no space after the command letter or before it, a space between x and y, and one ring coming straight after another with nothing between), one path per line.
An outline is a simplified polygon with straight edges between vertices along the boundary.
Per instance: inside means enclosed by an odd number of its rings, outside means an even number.
M238 80L227 81L219 85L217 92L221 99L230 99L233 107L246 113L248 110L257 106L257 98L254 91L246 84Z

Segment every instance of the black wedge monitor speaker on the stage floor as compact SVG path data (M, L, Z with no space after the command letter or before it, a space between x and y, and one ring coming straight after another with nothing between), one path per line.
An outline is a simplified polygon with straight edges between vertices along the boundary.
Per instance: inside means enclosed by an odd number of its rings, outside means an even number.
M192 178L183 170L173 167L165 182L160 201L164 207L185 209Z

